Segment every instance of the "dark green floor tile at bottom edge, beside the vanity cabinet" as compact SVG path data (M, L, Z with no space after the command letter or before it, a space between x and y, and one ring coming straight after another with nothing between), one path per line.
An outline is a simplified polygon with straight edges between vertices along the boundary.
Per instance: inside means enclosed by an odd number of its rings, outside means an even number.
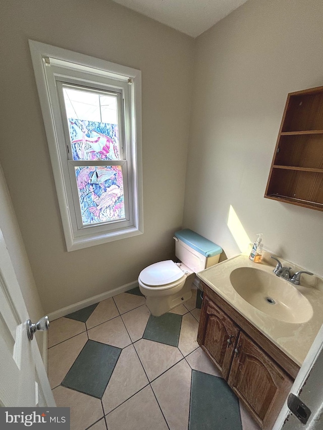
M238 397L223 378L192 370L189 430L242 430Z

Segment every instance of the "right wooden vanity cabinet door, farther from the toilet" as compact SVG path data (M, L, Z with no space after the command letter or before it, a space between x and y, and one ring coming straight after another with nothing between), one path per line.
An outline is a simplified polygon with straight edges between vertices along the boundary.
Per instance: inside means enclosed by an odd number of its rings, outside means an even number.
M260 427L270 430L293 382L243 332L234 355L228 384Z

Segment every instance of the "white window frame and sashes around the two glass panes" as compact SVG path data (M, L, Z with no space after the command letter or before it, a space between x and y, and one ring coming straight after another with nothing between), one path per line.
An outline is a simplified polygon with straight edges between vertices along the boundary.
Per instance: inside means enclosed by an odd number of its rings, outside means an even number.
M29 40L49 154L61 211L67 251L143 233L141 72L102 59ZM78 85L110 91L122 102L119 117L121 160L73 161L64 124L62 86ZM61 102L60 102L61 101ZM65 126L65 127L64 127ZM70 151L71 153L71 151ZM83 164L82 164L83 163ZM121 165L126 217L94 225L82 225L74 167ZM74 180L73 180L74 178ZM73 200L74 199L74 200Z

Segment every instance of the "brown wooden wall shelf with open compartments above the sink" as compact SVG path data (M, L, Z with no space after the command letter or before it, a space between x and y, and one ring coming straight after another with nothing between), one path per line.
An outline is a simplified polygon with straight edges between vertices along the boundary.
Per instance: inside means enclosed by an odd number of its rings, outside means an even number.
M264 197L323 211L323 87L288 94Z

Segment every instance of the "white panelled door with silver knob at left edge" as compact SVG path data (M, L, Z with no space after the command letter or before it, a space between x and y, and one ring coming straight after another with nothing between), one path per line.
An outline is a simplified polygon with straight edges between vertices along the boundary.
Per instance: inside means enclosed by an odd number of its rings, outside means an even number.
M56 406L0 229L0 406ZM33 321L36 323L36 321Z

